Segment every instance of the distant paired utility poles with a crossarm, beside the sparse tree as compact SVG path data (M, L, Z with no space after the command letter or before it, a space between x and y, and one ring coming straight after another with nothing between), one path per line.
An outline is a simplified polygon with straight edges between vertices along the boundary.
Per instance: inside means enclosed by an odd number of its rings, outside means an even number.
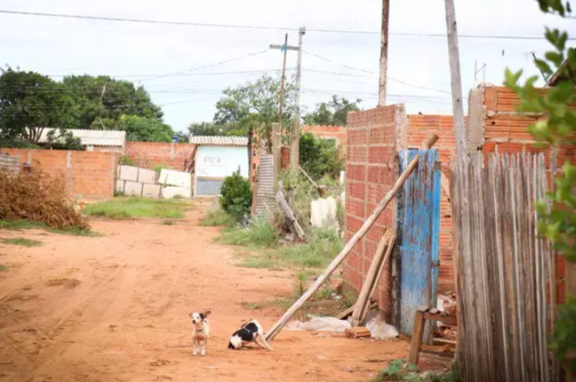
M284 105L284 78L286 67L286 53L288 50L295 50L298 52L298 66L296 67L296 118L293 120L291 145L290 145L290 166L295 170L298 169L298 158L300 157L300 97L301 97L301 81L302 81L302 43L303 37L306 34L306 27L301 27L298 31L298 46L288 46L288 34L286 34L284 45L270 45L270 49L280 49L284 51L284 64L282 70L282 83L280 85L280 123L282 123L282 108Z

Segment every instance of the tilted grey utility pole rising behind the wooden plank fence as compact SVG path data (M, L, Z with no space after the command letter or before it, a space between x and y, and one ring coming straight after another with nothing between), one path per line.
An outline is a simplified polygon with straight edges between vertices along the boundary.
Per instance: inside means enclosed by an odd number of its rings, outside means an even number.
M452 84L452 104L454 110L454 133L456 138L456 156L469 154L467 151L466 131L464 127L464 108L462 104L462 78L460 76L460 52L458 50L458 29L454 0L445 0L446 31L448 35L448 55L450 58L450 83Z

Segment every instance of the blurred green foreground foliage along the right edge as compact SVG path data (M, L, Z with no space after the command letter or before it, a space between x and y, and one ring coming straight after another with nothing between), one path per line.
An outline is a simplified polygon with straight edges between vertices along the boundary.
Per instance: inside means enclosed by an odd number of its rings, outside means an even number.
M566 17L572 12L570 2L537 1L544 13ZM576 50L566 46L568 34L565 31L546 28L545 37L552 49L544 58L536 59L536 67L548 78L554 75L556 84L542 93L535 87L538 76L520 84L522 71L514 73L508 69L505 84L518 93L520 111L544 115L544 119L529 127L542 145L573 149L576 148L576 109L573 106L576 103ZM551 208L547 207L546 200L538 203L538 228L568 262L576 262L576 166L569 162L563 164L562 173L554 182L555 191L548 194L547 200ZM560 306L554 323L553 348L563 365L576 374L576 299L573 296Z

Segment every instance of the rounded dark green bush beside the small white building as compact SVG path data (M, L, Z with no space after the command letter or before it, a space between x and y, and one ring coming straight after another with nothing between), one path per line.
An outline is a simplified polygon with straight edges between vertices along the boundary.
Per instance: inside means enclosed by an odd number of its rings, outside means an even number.
M250 213L252 191L250 183L240 173L227 176L220 189L220 206L232 218L240 219Z

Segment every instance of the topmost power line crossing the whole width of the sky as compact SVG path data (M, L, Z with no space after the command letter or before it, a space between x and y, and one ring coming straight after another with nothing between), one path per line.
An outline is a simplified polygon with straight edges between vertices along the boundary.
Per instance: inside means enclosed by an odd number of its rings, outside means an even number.
M228 29L247 29L247 30L265 30L265 31L298 31L296 27L272 27L266 25L241 25L241 24L220 24L209 22L174 22L166 20L149 20L149 19L134 19L122 17L105 17L105 16L90 16L83 14L63 14L63 13L40 13L40 12L24 12L24 11L10 11L0 10L0 13L5 14L19 14L27 16L42 16L42 17L58 17L65 19L80 19L80 20L94 20L104 22L137 22L147 24L165 24L165 25L180 25L180 26L193 26L193 27L206 27L206 28L228 28ZM353 31L353 30L338 30L338 29L321 29L321 28L307 28L307 31L317 31L322 33L348 33L348 34L364 34L364 35L380 35L380 31ZM444 33L416 33L416 32L390 32L391 36L403 37L420 37L420 38L442 38L446 39ZM502 35L481 35L481 34L460 34L459 39L496 39L496 40L546 40L544 36L502 36ZM576 38L568 39L576 40Z

